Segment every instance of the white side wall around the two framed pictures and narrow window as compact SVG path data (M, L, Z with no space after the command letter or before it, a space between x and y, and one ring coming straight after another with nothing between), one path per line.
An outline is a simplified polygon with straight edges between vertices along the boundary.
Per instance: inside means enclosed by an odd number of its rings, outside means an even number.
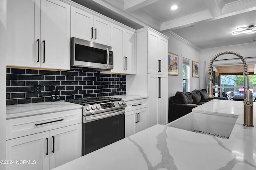
M168 33L163 34L169 37L168 51L179 56L178 76L168 76L168 96L175 96L177 91L182 92L182 57L190 59L190 91L199 89L200 78L192 77L192 61L200 62L200 50L184 43ZM199 63L199 67L201 67L201 63ZM200 74L199 77L201 77Z

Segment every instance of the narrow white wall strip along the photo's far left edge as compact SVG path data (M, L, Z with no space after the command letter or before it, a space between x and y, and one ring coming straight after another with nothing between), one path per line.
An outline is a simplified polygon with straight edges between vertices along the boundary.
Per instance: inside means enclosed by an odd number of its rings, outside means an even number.
M6 160L6 0L0 0L0 37L0 160Z

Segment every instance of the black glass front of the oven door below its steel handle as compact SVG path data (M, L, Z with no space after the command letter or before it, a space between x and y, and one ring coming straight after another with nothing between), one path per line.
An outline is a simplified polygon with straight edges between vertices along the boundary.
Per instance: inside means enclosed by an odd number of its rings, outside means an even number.
M124 139L124 113L83 123L82 156Z

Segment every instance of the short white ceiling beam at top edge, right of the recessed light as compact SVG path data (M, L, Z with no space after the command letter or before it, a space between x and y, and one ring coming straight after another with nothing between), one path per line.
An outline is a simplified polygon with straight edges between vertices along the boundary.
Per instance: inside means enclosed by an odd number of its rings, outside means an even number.
M207 6L213 17L220 16L224 5L220 0L204 0L204 4Z

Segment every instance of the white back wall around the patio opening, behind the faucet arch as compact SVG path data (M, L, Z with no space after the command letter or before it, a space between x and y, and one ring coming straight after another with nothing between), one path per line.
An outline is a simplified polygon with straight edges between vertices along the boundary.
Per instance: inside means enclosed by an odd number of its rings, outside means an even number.
M225 46L225 47L218 47L218 48L211 48L211 49L203 49L200 55L200 89L206 88L205 87L205 69L206 69L206 61L210 61L212 57L222 51L235 51L240 53L244 57L256 57L256 43L248 43L248 44L241 44L241 45L232 45L232 46ZM231 58L231 56L220 56L218 59L226 59ZM232 55L232 58L238 58L235 55ZM241 61L242 64L242 61Z

